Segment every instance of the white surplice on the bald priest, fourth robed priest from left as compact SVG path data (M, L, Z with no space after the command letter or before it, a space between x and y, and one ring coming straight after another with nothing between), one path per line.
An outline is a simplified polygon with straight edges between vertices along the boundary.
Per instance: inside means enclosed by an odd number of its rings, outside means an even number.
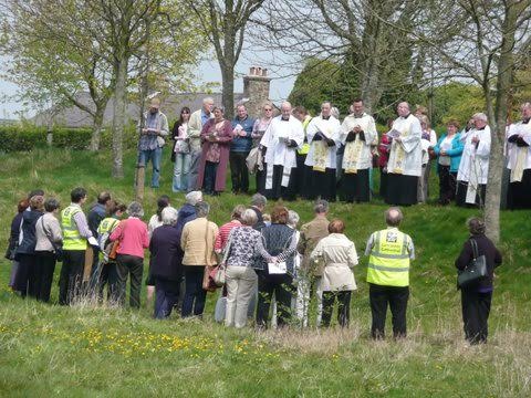
M420 177L423 170L423 128L414 115L398 117L392 130L400 134L400 143L393 139L387 163L388 174Z

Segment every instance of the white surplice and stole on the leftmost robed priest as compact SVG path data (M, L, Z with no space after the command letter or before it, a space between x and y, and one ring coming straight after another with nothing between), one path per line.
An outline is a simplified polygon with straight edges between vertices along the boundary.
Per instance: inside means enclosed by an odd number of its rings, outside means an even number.
M292 139L296 147L288 147L284 138ZM302 123L290 115L289 121L282 121L282 116L274 117L266 129L260 145L267 149L264 161L268 166L266 170L266 189L271 189L273 166L283 166L282 187L287 187L291 169L296 167L296 149L302 147L304 142L304 129Z

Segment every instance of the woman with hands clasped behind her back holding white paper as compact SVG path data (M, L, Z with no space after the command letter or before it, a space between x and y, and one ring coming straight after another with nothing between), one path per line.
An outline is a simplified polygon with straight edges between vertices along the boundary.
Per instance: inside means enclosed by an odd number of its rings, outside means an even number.
M271 212L271 226L262 229L258 250L261 261L257 262L258 308L257 325L266 328L269 306L274 294L278 306L278 326L291 320L291 295L293 290L294 260L296 254L295 230L288 227L289 211L277 206Z

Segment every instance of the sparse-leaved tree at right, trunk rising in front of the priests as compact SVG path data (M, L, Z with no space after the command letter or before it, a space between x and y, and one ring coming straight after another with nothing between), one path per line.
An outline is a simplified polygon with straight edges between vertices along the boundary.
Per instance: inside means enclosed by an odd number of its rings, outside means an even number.
M531 0L437 1L425 10L431 18L413 34L436 49L439 69L473 81L482 90L492 134L485 219L488 235L498 242L506 127L514 71L531 45ZM441 14L446 18L435 18ZM441 32L451 32L452 40L441 42Z

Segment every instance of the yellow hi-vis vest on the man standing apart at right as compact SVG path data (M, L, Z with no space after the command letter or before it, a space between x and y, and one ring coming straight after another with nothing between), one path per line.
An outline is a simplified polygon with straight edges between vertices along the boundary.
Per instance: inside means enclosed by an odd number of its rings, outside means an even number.
M367 282L382 286L409 285L409 237L397 229L374 233Z

